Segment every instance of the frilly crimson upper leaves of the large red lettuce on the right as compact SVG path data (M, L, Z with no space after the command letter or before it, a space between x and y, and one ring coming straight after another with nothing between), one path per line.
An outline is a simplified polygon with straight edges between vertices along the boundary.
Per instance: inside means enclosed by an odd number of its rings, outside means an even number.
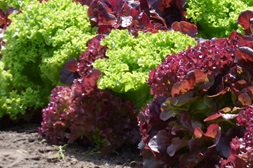
M171 96L173 85L179 82L177 85L180 86L186 74L194 70L202 71L214 79L227 66L233 64L234 53L229 50L229 45L227 39L208 40L177 55L167 56L164 62L149 74L148 84L151 86L151 93L157 96ZM203 85L203 90L208 89L208 84L212 83L212 79L209 80L207 85ZM187 82L185 83L182 86L186 87ZM181 89L176 90L176 93L179 93ZM184 90L182 88L182 91Z

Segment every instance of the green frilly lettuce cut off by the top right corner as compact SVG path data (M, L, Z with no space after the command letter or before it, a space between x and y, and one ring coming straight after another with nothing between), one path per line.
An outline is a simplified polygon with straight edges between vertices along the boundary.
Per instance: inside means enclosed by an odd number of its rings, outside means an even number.
M198 26L200 37L227 37L233 30L241 31L236 24L239 14L253 9L248 0L188 0L187 15Z

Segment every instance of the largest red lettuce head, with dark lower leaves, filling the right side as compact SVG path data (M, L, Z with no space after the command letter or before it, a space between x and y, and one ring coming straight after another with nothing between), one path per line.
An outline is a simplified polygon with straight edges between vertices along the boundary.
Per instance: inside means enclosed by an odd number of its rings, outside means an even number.
M138 116L144 166L219 167L234 158L232 145L247 134L239 112L253 100L252 49L250 36L233 32L150 72L155 99Z

